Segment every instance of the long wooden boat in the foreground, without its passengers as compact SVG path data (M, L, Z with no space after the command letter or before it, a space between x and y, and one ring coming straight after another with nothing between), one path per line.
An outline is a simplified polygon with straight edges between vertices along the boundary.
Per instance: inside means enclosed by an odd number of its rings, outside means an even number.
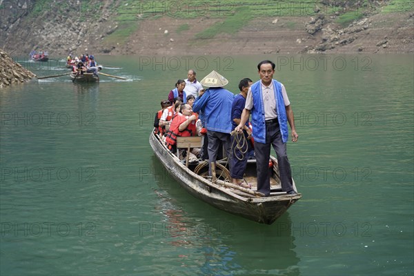
M263 197L258 195L259 193L256 191L255 160L248 160L245 171L244 180L252 185L252 189L249 190L239 186L233 187L233 184L230 184L226 179L217 180L216 182L211 181L211 177L206 176L208 175L207 161L201 161L199 164L188 164L187 168L176 155L168 150L166 144L159 138L159 135L153 132L150 135L149 141L161 164L188 193L228 213L239 215L261 224L272 224L302 197L299 193L296 195L286 195L286 193L282 192L278 177L279 168L275 157L271 157L274 165L273 168L269 168L269 170L272 170L272 177L270 179L271 193L270 196ZM220 170L218 170L219 164L216 165L217 177L220 174ZM225 165L225 162L221 162L221 165ZM202 169L200 170L200 168ZM224 166L221 166L221 168L221 171L225 170ZM294 188L296 190L295 184Z

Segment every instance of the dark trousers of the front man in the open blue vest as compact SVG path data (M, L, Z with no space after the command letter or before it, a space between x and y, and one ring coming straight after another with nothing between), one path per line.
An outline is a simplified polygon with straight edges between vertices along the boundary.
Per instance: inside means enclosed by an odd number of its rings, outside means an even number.
M290 192L293 190L292 172L286 152L286 143L282 141L277 119L273 120L271 124L266 122L266 143L262 144L255 141L257 191L265 195L270 195L270 145L273 146L277 155L282 190L284 192Z

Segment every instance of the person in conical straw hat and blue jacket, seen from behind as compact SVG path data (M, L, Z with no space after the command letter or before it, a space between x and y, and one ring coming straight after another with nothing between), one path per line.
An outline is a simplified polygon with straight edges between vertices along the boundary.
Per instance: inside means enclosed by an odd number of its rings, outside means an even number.
M221 143L230 159L231 106L234 95L223 88L228 84L228 80L215 70L204 77L200 83L208 89L200 92L199 97L195 99L193 111L201 111L199 113L201 121L207 129L209 171L215 181L215 161ZM230 163L229 161L228 164Z

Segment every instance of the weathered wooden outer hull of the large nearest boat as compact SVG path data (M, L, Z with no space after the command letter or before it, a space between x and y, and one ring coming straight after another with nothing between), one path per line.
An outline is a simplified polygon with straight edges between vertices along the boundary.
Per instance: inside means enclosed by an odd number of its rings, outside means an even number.
M233 193L232 189L212 183L186 168L153 133L150 135L150 145L161 164L188 193L233 215L261 224L272 224L302 197L300 194L242 197Z

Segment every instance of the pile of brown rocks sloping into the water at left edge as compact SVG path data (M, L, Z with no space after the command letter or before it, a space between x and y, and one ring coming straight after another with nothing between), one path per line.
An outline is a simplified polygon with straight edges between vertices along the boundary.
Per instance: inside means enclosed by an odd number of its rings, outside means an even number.
M14 62L6 52L0 49L0 88L23 83L34 77L36 75Z

